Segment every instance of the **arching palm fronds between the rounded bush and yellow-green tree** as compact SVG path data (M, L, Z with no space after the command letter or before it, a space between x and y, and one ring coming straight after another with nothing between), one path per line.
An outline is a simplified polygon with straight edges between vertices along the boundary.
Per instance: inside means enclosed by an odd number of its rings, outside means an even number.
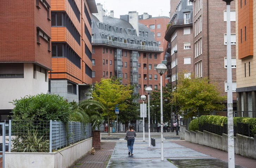
M75 121L83 123L91 123L92 129L99 127L103 122L103 117L99 113L100 110L105 110L105 106L93 99L85 99L79 102L70 103L72 114L71 117Z

